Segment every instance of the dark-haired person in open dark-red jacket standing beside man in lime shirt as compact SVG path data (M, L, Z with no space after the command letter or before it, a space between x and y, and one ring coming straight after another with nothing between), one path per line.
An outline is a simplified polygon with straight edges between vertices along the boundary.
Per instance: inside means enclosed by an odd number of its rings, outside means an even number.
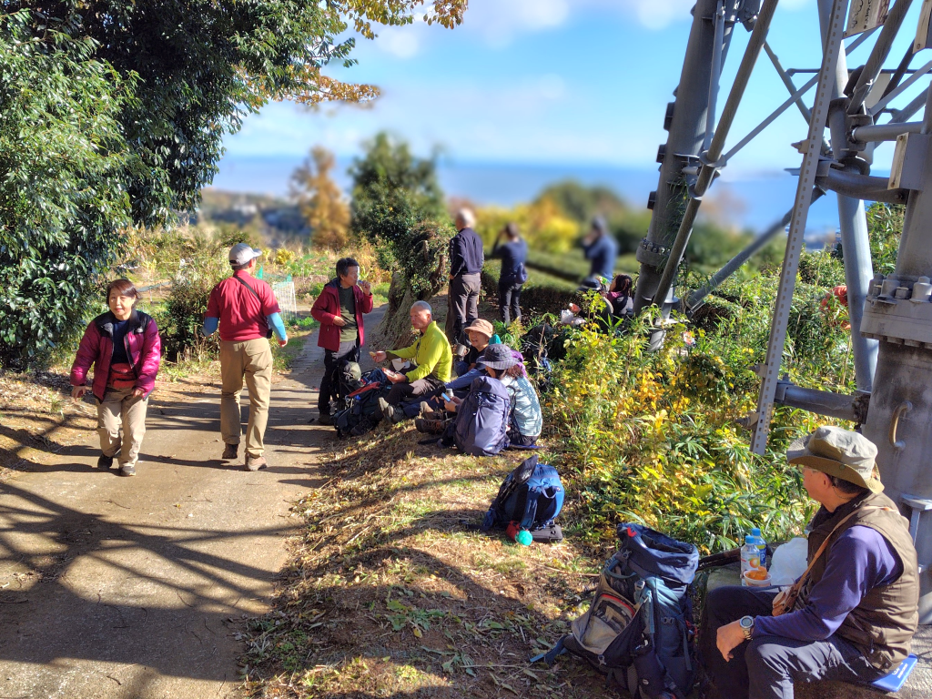
M317 345L323 351L323 378L317 397L322 425L331 424L330 399L340 362L359 362L363 346L363 313L372 312L372 286L359 281L359 263L352 257L336 261L336 278L323 287L310 314L321 323Z

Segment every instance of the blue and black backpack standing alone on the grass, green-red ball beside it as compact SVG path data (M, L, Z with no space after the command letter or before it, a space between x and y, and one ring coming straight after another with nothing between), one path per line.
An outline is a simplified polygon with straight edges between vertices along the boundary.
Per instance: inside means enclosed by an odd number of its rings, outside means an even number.
M560 474L553 466L538 463L535 454L505 478L488 508L482 530L506 528L517 522L534 541L563 541L563 532L554 523L563 509L563 498Z

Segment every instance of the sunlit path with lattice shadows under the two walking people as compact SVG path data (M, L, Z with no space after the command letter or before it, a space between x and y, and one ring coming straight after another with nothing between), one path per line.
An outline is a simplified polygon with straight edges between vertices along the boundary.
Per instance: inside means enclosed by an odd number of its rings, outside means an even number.
M238 694L242 624L268 609L333 434L308 424L321 373L311 336L272 391L267 470L219 460L213 385L153 396L135 478L92 468L89 433L0 486L0 696Z

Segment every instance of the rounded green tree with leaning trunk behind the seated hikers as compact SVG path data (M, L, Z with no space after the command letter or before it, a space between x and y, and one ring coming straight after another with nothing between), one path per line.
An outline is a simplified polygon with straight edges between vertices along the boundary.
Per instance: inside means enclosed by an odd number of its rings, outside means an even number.
M446 281L446 248L455 233L433 159L416 158L402 141L378 133L349 170L351 230L372 240L391 270L383 334L400 341L410 330L408 310Z

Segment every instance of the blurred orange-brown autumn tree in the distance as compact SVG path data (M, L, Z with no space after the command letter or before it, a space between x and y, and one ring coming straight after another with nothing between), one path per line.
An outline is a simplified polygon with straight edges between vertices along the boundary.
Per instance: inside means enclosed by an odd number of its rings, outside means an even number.
M291 182L292 196L308 222L311 241L333 250L346 245L349 229L349 203L330 175L335 165L334 154L315 145L295 168Z

